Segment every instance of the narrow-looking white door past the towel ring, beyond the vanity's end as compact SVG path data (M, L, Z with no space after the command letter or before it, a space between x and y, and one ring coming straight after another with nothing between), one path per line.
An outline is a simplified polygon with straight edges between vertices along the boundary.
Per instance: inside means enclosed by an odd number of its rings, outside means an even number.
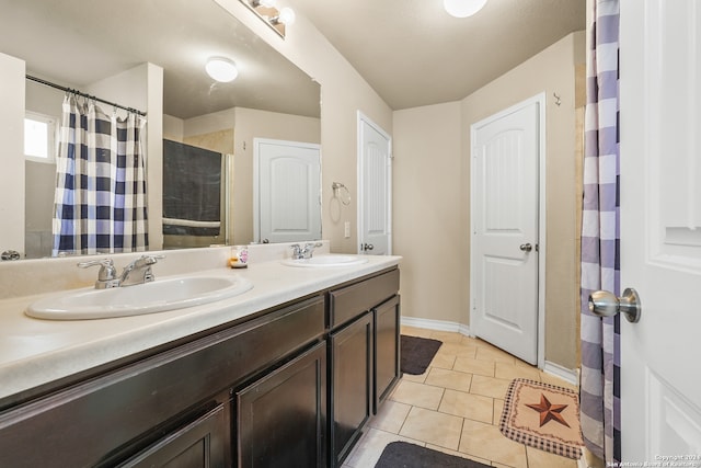
M358 113L358 240L360 253L392 253L392 147L379 126Z

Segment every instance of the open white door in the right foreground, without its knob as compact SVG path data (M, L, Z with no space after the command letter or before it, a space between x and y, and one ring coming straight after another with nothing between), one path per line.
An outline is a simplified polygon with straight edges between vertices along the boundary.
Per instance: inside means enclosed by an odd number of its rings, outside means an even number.
M625 461L701 466L701 2L621 1ZM641 465L642 466L642 465Z

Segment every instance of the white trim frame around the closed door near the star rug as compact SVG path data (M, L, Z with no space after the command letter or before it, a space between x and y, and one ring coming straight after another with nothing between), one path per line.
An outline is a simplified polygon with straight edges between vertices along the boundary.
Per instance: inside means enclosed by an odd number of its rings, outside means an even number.
M470 323L474 323L476 312L472 308L472 301L475 297L474 275L473 269L473 246L472 241L474 237L474 230L472 227L475 225L475 199L476 196L473 192L475 187L474 178L474 159L476 157L476 147L474 145L478 127L482 127L492 122L519 111L528 105L538 104L538 368L545 367L545 232L547 232L547 212L545 212L545 92L536 94L532 98L526 99L517 104L514 104L503 111L490 115L482 121L475 122L470 125ZM470 331L471 336L475 336L473 331Z

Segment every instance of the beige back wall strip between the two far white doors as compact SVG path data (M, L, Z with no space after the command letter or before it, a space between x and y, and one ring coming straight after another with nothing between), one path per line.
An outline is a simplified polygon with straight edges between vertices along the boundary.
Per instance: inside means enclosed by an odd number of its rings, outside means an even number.
M469 262L461 225L461 104L394 112L393 242L402 261L402 316L467 322L461 290ZM467 303L466 303L467 304Z

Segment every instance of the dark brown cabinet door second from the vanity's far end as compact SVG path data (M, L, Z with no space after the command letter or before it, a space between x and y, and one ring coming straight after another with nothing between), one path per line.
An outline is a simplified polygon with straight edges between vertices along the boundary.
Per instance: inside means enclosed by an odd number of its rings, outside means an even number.
M372 411L372 313L330 335L332 466L341 466Z

